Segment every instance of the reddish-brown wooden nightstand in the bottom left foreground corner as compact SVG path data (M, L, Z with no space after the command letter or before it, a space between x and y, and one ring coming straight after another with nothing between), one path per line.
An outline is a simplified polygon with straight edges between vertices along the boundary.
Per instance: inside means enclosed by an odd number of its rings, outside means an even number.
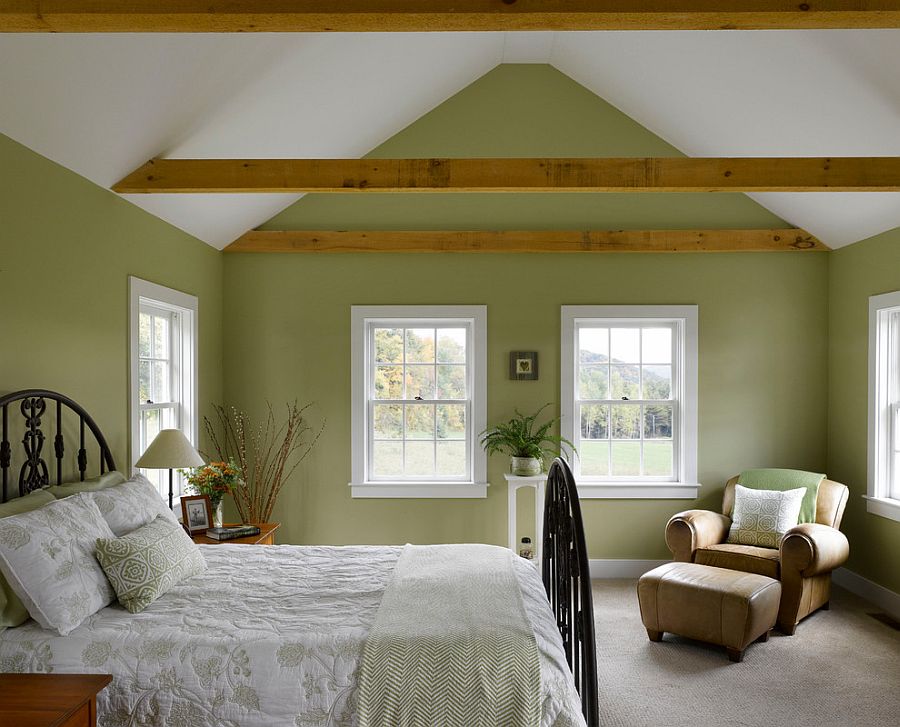
M95 727L109 674L0 674L0 724Z

